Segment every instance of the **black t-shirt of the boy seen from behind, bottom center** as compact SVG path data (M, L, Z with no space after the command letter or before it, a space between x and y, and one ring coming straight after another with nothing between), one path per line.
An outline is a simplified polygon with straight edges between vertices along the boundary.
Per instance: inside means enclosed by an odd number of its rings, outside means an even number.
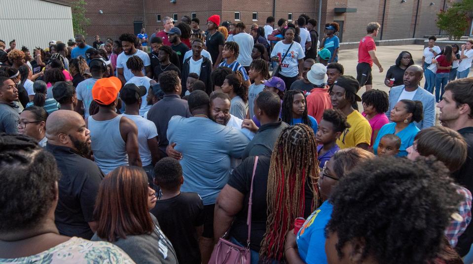
M204 205L199 194L181 192L181 194L158 200L151 209L161 230L169 238L176 251L179 263L200 264L200 250L196 226L204 224Z

